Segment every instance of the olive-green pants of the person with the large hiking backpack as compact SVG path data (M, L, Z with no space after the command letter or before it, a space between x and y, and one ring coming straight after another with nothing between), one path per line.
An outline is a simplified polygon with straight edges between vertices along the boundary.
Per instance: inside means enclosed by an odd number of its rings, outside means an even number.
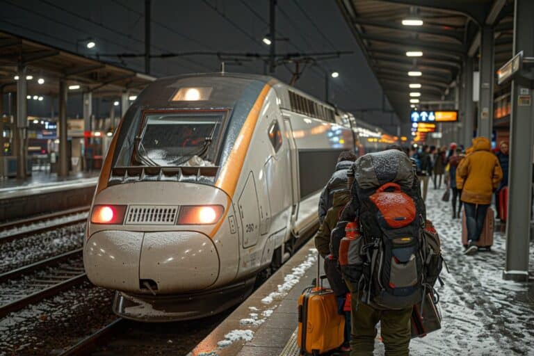
M376 325L380 321L380 334L386 348L386 356L409 355L410 316L412 307L402 310L378 310L359 302L357 293L352 293L353 310L350 321L352 335L350 338L350 356L372 356L375 348Z

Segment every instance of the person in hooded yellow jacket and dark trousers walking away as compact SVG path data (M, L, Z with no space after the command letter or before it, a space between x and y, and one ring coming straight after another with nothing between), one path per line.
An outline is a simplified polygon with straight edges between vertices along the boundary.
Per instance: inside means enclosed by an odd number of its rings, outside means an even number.
M456 170L463 181L462 202L464 202L468 248L465 254L478 251L476 241L484 226L487 208L492 203L494 190L503 179L499 159L492 153L491 144L485 137L473 139L473 152L468 154Z

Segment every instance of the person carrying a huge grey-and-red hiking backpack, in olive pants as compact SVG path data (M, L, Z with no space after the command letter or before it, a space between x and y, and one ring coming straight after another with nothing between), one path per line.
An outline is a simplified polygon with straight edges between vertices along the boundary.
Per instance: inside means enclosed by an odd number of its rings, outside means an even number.
M406 154L366 154L352 172L350 202L336 227L346 234L337 243L332 232L330 241L330 250L339 244L341 274L351 292L350 355L373 355L379 322L386 355L409 355L414 306L435 300L439 237L426 220L416 168Z

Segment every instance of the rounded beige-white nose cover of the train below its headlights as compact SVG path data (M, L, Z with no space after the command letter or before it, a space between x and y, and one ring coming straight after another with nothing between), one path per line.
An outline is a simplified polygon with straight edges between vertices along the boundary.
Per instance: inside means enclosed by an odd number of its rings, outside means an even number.
M83 259L92 283L130 293L199 291L220 268L213 241L200 232L97 232Z

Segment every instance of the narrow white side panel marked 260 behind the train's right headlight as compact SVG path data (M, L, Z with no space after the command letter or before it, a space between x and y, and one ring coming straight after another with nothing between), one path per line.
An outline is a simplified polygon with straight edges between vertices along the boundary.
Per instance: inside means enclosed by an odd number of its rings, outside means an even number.
M237 204L243 227L243 248L250 248L256 245L259 237L258 197L252 171L248 175Z

